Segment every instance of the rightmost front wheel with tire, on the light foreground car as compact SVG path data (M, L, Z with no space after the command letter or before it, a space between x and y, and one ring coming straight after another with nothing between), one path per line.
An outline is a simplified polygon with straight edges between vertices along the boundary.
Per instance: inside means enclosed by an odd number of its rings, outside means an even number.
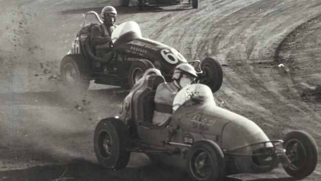
M306 132L293 131L283 138L286 157L290 166L283 166L284 171L295 179L308 177L315 170L318 162L317 144Z

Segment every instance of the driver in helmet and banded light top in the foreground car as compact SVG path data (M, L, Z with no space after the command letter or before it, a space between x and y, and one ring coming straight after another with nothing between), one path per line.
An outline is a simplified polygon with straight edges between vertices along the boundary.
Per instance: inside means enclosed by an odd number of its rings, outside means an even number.
M192 84L197 77L196 70L188 63L182 63L175 67L173 81L162 83L157 87L153 124L162 126L168 120L172 114L173 100L177 92Z

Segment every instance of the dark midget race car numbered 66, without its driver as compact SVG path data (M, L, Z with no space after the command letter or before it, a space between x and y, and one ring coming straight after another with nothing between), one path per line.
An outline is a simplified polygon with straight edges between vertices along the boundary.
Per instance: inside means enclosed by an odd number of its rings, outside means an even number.
M98 14L89 11L84 15L83 26L77 33L72 48L60 63L63 83L70 87L87 90L91 80L96 84L107 84L131 88L149 68L157 68L166 79L170 79L174 68L187 60L176 49L159 42L143 38L136 22L124 22L112 33L111 50L107 58L97 57L90 42L90 30L95 23L86 24L87 15ZM104 55L105 56L105 55ZM189 61L198 72L198 81L208 85L214 92L223 81L222 67L213 57Z

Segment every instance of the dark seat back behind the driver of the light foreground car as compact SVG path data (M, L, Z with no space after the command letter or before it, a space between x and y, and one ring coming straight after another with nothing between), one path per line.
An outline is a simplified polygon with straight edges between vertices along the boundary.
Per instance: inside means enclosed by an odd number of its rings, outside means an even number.
M165 79L163 76L150 75L145 90L141 91L137 99L137 120L142 122L152 123L153 115L155 110L155 93L157 87L164 83Z

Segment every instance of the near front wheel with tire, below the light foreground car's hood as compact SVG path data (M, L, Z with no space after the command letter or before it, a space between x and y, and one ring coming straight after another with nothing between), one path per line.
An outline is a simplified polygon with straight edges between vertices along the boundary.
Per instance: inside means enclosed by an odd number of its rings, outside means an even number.
M193 181L222 181L224 178L224 154L213 141L198 141L187 155L188 173Z

